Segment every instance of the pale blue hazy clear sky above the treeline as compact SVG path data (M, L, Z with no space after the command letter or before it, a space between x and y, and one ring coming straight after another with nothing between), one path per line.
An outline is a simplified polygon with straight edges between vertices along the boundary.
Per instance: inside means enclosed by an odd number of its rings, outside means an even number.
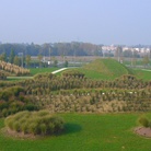
M0 0L0 42L151 45L151 0Z

